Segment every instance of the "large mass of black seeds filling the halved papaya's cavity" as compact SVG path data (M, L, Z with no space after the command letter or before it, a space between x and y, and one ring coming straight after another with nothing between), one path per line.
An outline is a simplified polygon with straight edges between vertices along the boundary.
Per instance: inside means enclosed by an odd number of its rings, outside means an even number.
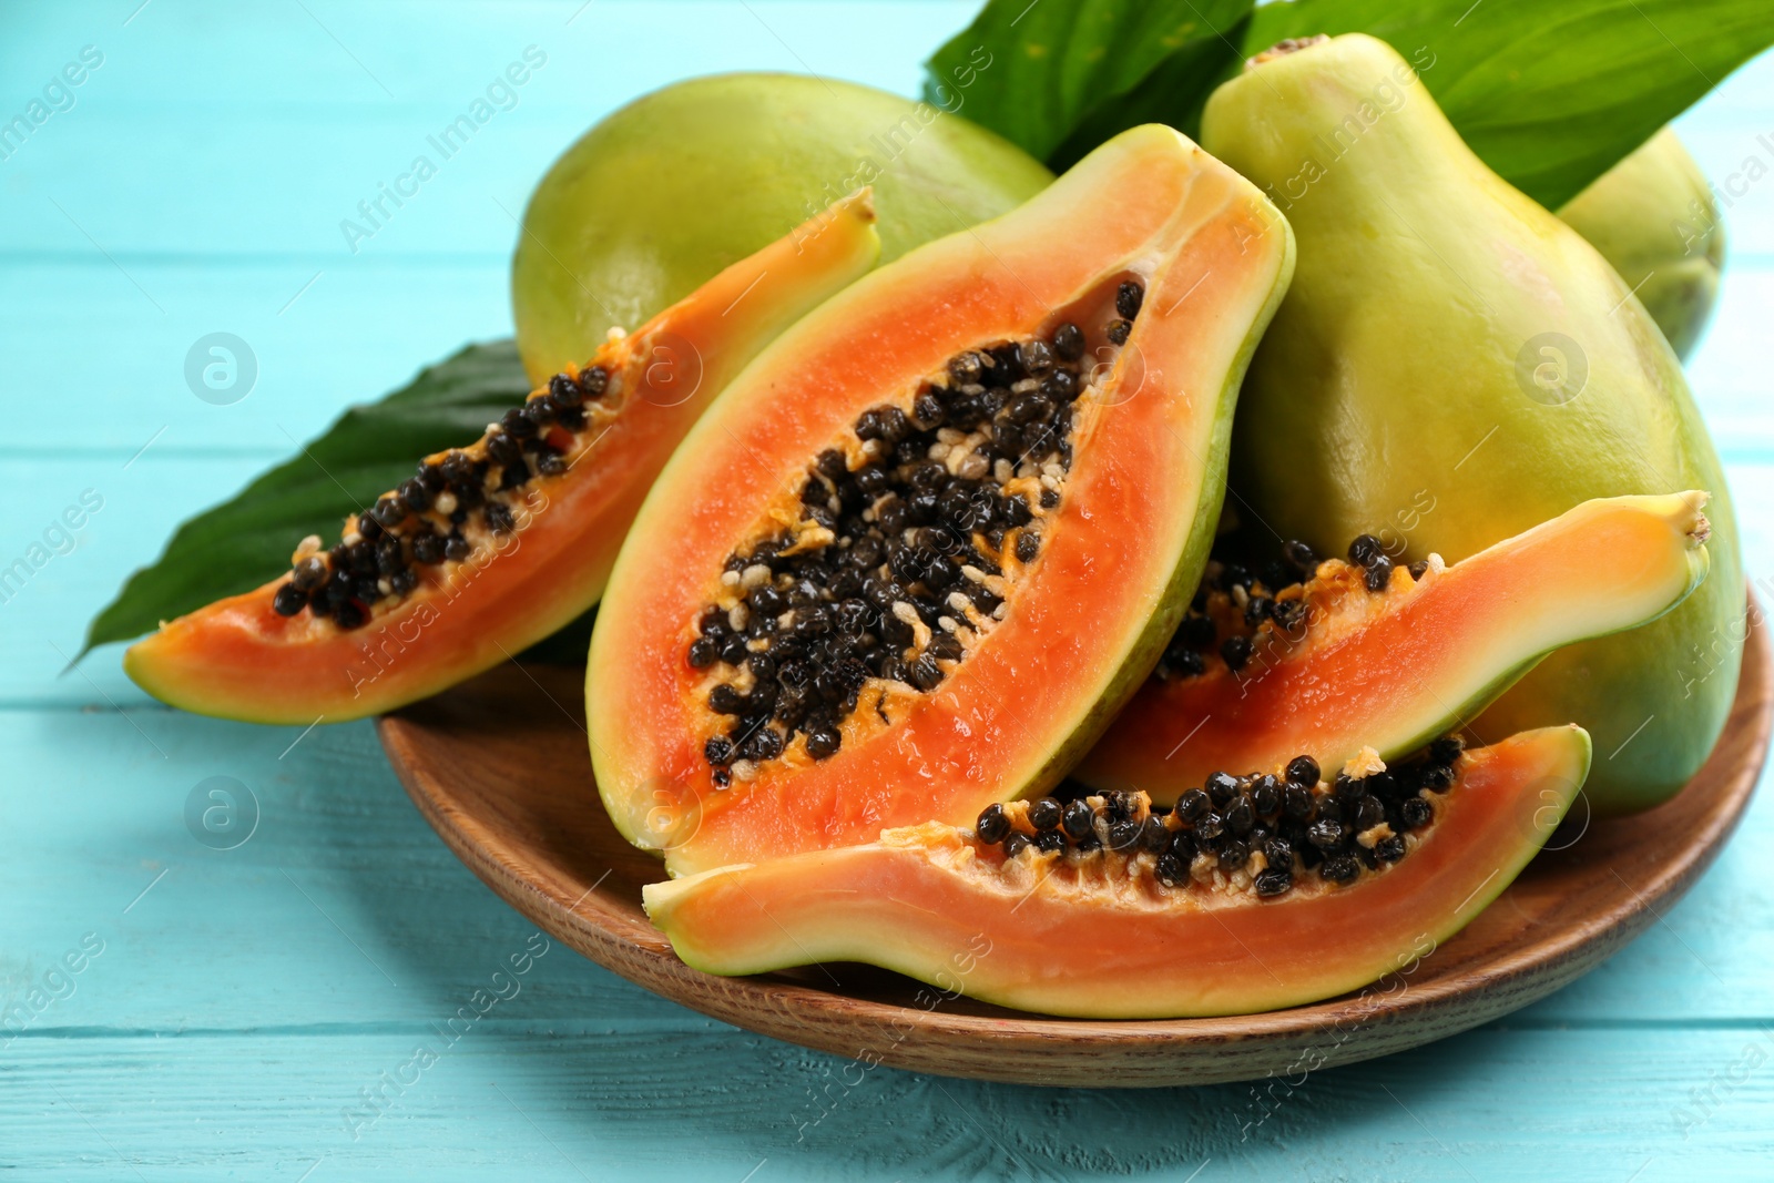
M1111 339L1126 339L1116 325L1141 296L1119 286ZM857 709L885 722L885 690L862 702L869 679L935 690L1040 555L1071 466L1084 330L1066 321L946 371L910 408L862 411L853 438L807 466L797 527L727 559L722 601L688 646L692 667L717 672L708 708L731 718L703 748L717 786L798 736L814 759L834 756Z

